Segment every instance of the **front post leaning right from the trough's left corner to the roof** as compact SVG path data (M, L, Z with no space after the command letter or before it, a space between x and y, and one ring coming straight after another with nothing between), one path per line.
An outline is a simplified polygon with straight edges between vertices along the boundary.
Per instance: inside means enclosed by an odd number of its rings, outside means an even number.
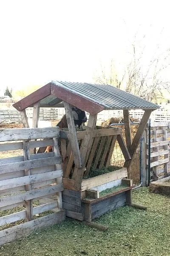
M85 131L85 137L84 137L84 140L82 140L82 145L80 148L81 159L82 159L82 168L77 170L77 175L75 178L75 187L77 189L80 189L82 177L83 177L84 170L85 170L85 165L86 165L86 162L88 159L88 154L90 152L91 145L93 143L92 132L94 130L94 127L96 126L96 119L97 119L97 114L95 114L95 115L90 114L90 116L88 118L87 128ZM74 172L76 172L76 169L74 170Z

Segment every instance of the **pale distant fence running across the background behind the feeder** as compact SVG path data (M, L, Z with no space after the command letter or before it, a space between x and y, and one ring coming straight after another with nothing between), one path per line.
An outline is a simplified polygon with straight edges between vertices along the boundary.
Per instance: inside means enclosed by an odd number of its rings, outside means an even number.
M32 118L33 108L26 109L26 113L28 117ZM130 116L141 120L143 113L142 110L131 110ZM64 114L64 108L40 108L40 120L60 120ZM101 123L111 117L119 118L122 116L122 110L104 110L97 115L97 122ZM150 118L152 122L170 122L170 112L159 109L153 111ZM20 111L15 109L0 110L0 122L22 122Z

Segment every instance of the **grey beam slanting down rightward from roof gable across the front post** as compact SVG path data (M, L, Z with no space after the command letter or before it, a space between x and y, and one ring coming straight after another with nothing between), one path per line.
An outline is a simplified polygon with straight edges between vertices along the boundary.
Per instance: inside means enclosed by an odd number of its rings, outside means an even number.
M77 168L80 168L82 167L82 160L80 156L79 143L77 140L77 134L74 125L73 112L71 109L71 105L68 102L64 102L64 107L69 131L68 140L70 141L73 150L74 163Z

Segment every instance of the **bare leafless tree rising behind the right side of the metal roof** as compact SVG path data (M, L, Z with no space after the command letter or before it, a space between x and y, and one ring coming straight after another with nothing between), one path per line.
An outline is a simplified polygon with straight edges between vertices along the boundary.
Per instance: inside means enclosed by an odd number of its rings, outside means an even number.
M144 38L145 36L142 37ZM166 89L170 92L170 81L164 79L164 71L170 66L170 49L161 52L158 44L153 56L147 58L146 46L142 39L137 42L135 36L131 47L131 58L122 76L118 74L112 59L108 69L100 64L100 72L94 76L94 80L99 84L111 84L117 88L123 88L143 99L156 102L158 94L162 97L162 90Z

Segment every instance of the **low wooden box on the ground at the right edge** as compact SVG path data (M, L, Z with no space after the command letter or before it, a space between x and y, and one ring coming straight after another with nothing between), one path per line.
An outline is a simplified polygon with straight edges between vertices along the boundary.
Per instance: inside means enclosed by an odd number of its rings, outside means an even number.
M161 195L170 195L170 176L151 182L149 191Z

